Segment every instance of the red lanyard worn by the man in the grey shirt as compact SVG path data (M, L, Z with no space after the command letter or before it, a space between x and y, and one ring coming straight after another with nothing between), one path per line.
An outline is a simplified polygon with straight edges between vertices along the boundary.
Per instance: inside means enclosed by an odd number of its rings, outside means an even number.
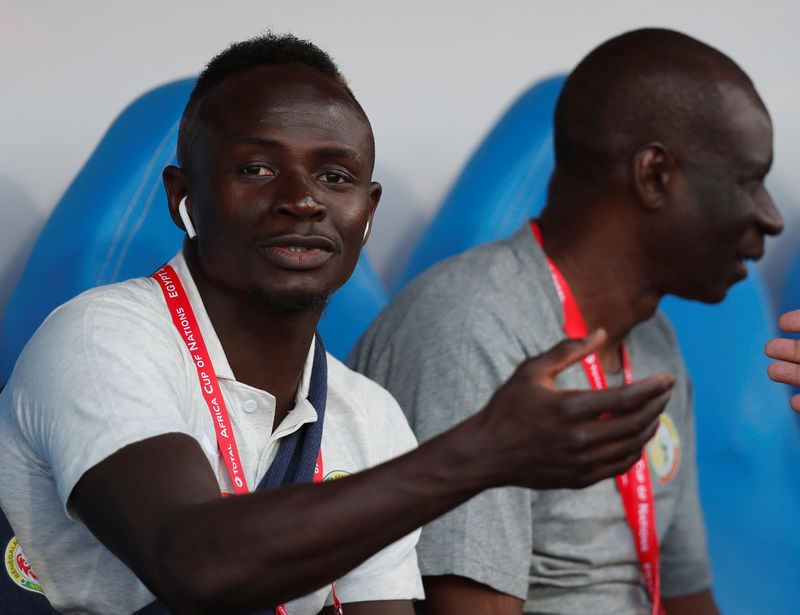
M531 222L531 229L539 245L542 246L542 234L535 221ZM567 337L573 339L584 337L588 331L578 303L575 301L575 297L561 271L549 257L546 255L545 257L550 268L550 275L553 277L556 293L561 301L561 308L564 310L564 332ZM633 370L631 369L628 351L625 349L624 344L621 347L621 352L623 380L625 384L631 384L633 382ZM593 389L607 388L606 376L597 353L593 352L584 357L581 363L586 372L586 378ZM653 615L663 615L661 580L658 570L659 547L658 536L656 535L656 511L653 501L653 487L650 483L650 470L647 467L647 457L644 451L642 451L639 461L630 470L617 476L617 487L622 496L622 505L625 508L628 525L630 525L633 532L636 554L639 557L639 565L642 568L644 584L653 602L652 613Z

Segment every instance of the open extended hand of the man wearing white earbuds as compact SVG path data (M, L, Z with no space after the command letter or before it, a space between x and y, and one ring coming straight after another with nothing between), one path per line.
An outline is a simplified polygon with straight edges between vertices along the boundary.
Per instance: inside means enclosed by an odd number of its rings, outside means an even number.
M497 484L585 487L633 465L658 428L674 379L651 376L603 391L562 391L556 375L605 341L600 330L525 361L476 415L501 467ZM489 455L487 455L489 457Z

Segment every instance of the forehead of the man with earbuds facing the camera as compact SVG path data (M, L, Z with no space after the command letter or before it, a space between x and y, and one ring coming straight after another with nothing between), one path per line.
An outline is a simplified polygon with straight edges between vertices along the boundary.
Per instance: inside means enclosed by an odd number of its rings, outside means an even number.
M287 145L324 141L372 158L372 129L363 111L330 77L298 64L270 64L235 73L204 98L201 141L277 138Z

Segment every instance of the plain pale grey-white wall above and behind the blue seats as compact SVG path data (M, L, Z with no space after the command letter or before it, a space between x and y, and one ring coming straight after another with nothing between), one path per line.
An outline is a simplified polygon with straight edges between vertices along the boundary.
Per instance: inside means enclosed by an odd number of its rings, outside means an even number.
M462 165L512 100L601 41L675 28L732 56L775 125L786 218L762 263L773 292L800 225L800 4L670 0L280 3L0 0L0 311L33 241L106 128L156 85L266 28L329 51L375 130L384 197L369 244L391 281Z

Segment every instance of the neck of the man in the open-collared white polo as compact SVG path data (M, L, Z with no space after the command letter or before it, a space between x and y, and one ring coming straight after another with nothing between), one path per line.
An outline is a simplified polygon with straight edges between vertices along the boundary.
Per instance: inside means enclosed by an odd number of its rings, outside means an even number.
M184 256L236 380L275 397L274 430L294 407L321 310L269 309L209 279L190 251Z

